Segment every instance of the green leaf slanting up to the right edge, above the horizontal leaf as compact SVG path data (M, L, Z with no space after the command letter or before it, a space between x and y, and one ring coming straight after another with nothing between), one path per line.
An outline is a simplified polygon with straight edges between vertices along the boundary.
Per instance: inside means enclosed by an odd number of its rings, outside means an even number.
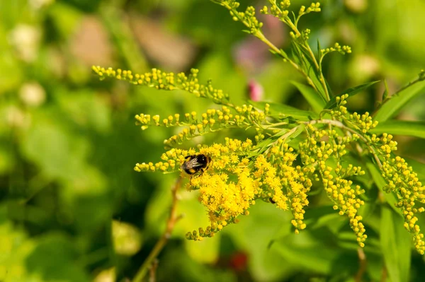
M404 88L399 93L392 95L390 100L382 104L382 107L376 112L375 120L378 122L385 122L387 119L394 117L402 107L407 104L410 100L415 98L417 95L424 93L425 81L421 81L413 84L407 88Z

